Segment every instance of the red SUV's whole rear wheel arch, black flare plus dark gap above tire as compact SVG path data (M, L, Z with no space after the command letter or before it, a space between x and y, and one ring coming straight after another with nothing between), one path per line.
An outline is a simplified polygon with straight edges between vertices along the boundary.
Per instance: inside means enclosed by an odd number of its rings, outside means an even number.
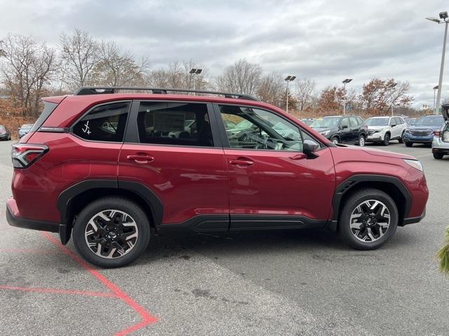
M70 239L74 216L93 200L105 196L126 197L140 205L154 228L162 222L161 200L142 183L107 179L85 180L67 188L58 197L59 234L62 244L67 244Z

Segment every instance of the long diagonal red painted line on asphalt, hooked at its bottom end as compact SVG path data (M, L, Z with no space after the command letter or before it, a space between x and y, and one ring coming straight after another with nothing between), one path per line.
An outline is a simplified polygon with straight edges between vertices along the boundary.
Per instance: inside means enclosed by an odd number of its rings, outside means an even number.
M55 246L58 246L58 248L61 249L61 251L67 255L69 255L70 258L72 258L74 261L76 261L81 267L86 269L88 272L90 272L95 278L98 279L103 285L105 285L109 290L116 295L116 297L119 297L120 300L128 304L132 309L134 309L142 318L142 321L140 323L137 323L135 325L130 326L129 328L126 328L124 330L121 330L116 333L116 336L124 336L128 335L130 332L133 332L135 330L139 330L141 328L144 328L145 326L156 323L158 321L158 318L156 316L152 316L144 307L142 307L140 304L135 302L131 297L129 297L119 286L117 286L112 281L109 281L109 279L106 278L106 276L100 274L97 270L93 269L91 265L88 264L85 260L79 257L79 255L76 255L72 250L67 248L67 246L64 246L60 243L58 239L53 237L48 232L42 232L42 234L51 241Z

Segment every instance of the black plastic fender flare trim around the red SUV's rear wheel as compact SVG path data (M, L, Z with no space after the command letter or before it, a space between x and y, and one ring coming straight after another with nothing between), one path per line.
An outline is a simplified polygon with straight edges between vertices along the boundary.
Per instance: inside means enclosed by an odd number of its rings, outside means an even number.
M74 197L88 190L95 192L95 189L102 188L127 190L138 195L147 203L149 209L151 209L153 223L155 225L162 223L163 204L159 197L144 184L116 179L88 179L70 186L60 193L58 197L57 207L60 212L59 234L62 244L67 244L72 233L72 223L68 223L68 209Z

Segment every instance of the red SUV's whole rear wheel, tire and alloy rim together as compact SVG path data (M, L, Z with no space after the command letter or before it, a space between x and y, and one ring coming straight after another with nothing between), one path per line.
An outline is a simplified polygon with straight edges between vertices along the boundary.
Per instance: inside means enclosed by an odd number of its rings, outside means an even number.
M121 197L105 197L88 204L77 216L74 244L88 262L121 267L133 262L149 243L145 212Z

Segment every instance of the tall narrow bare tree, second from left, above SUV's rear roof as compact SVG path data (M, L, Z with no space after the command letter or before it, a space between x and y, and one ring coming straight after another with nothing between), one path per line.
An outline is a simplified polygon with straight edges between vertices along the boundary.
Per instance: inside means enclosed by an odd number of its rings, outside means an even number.
M74 29L72 36L61 34L62 62L66 66L63 80L70 89L88 84L89 75L98 62L98 43L86 32Z

